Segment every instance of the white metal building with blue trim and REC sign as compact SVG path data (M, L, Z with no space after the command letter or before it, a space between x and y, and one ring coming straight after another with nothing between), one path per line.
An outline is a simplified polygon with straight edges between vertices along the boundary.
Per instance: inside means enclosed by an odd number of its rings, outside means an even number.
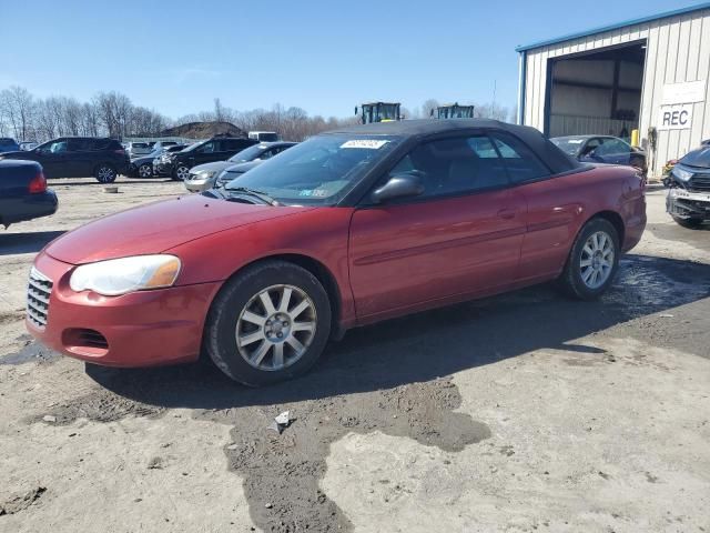
M649 174L710 138L710 2L516 51L518 123L548 137L638 129Z

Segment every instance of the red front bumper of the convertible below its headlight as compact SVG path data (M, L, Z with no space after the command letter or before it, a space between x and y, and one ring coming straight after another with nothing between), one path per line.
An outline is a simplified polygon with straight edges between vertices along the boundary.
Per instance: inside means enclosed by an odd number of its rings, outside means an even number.
M26 326L53 350L125 368L183 363L200 356L204 321L219 282L103 296L72 291L69 278L74 266L47 253L38 255L34 266L51 280L52 289L47 325L26 319Z

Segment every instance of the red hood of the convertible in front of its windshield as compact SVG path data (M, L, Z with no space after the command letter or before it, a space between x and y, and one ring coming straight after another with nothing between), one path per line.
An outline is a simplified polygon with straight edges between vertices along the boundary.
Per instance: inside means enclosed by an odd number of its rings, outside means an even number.
M52 241L44 252L71 264L161 253L220 231L310 209L180 197L90 222Z

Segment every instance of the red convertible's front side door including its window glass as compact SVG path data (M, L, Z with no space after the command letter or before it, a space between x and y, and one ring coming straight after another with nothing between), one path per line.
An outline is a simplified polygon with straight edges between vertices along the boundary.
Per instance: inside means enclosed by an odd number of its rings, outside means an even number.
M406 172L422 177L422 195L353 214L351 284L364 321L495 292L517 272L525 200L485 134L420 143L381 184Z

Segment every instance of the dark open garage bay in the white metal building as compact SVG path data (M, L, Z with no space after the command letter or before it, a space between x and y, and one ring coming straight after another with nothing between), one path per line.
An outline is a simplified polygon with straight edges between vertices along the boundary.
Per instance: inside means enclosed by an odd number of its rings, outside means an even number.
M639 127L646 40L552 60L545 132L615 135Z

